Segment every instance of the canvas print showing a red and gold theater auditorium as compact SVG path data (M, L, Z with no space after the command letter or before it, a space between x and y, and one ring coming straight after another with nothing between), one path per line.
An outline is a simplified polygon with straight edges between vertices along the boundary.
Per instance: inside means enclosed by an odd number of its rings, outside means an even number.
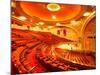
M11 73L96 68L95 6L11 2Z

